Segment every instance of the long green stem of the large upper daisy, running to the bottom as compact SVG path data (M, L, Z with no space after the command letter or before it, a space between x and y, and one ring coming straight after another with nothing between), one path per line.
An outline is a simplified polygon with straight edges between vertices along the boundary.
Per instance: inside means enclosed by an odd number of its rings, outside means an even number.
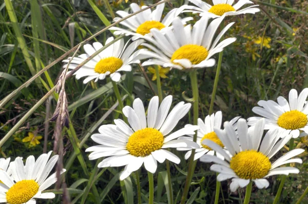
M197 78L197 70L194 70L190 72L190 81L191 81L191 88L192 88L192 97L194 98L194 125L198 124L198 117L199 117L199 105L198 105L198 100L199 100L199 90L198 90L198 78ZM197 133L194 135L194 142L197 141ZM194 174L194 170L196 165L194 164L194 157L195 157L195 151L196 149L192 149L191 151L191 156L189 159L189 167L188 167L188 172L187 172L187 177L186 177L186 182L185 182L185 187L183 191L183 195L181 198L181 204L185 203L186 197L188 195L189 191L189 186L192 178L192 174Z

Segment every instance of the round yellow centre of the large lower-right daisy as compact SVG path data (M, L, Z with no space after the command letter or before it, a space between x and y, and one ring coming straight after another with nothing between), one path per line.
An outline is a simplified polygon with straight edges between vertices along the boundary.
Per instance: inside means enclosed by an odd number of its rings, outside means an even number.
M271 167L268 157L256 150L241 151L230 161L230 168L243 179L263 178Z

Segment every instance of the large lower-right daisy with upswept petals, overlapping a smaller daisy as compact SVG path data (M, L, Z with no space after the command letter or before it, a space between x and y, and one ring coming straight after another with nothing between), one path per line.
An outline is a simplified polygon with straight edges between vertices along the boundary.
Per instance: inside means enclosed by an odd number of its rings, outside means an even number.
M210 170L218 172L217 180L220 182L232 178L230 190L235 192L238 187L244 188L251 181L259 189L269 186L269 176L290 173L299 173L295 167L280 167L288 163L302 163L300 158L292 158L304 152L304 149L294 149L287 152L275 162L271 158L290 140L288 135L283 139L277 137L277 130L269 130L263 140L265 121L259 120L255 126L247 126L246 120L239 119L237 133L228 122L224 123L224 130L214 130L224 146L230 152L229 156L218 144L210 140L204 140L202 144L209 146L223 155L224 160L205 154L201 156L201 162L214 162ZM279 140L280 139L280 140ZM278 141L279 140L279 141ZM292 158L292 159L290 159Z

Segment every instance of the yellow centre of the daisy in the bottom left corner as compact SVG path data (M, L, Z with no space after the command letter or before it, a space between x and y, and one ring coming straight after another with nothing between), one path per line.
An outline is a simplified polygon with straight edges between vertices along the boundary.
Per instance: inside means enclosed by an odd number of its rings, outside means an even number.
M38 187L35 180L21 180L8 190L6 199L10 204L25 203L38 192Z

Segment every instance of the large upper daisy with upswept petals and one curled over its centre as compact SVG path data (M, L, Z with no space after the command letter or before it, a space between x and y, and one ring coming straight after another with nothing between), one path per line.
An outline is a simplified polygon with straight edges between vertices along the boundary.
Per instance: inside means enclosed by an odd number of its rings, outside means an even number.
M207 26L208 18L203 16L191 28L190 25L184 27L180 18L176 18L172 22L173 29L166 29L164 34L158 29L151 29L153 38L145 37L145 39L159 49L149 43L142 43L151 50L142 53L147 58L151 58L142 65L157 64L179 70L214 66L215 59L210 59L210 57L223 51L224 47L236 40L233 37L218 43L222 35L234 24L232 22L222 29L213 41L222 20L223 17L214 19Z

